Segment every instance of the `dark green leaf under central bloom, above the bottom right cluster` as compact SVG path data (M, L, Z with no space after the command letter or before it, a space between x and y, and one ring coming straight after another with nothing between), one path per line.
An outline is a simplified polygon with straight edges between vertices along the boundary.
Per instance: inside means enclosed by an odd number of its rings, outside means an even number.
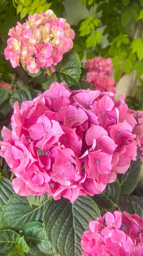
M99 194L94 195L93 200L98 204L99 207L109 209L116 206L120 195L120 184L118 180L113 183L107 184L106 189Z

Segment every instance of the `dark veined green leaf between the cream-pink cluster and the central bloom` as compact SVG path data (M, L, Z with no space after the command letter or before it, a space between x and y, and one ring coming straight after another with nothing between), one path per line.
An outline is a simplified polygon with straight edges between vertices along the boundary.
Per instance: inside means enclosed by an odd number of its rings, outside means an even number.
M63 59L55 68L50 79L42 84L43 90L49 89L54 82L64 82L66 86L79 85L80 79L80 61L78 55L74 51L67 52L63 55Z

